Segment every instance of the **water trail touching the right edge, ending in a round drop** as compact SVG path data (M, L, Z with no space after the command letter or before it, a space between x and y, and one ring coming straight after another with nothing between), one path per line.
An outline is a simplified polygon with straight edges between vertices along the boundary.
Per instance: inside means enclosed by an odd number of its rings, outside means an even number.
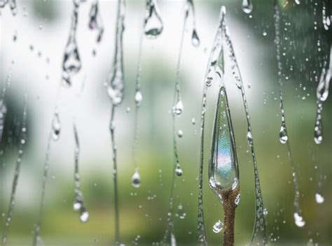
M321 122L321 112L323 110L323 101L328 98L328 87L331 82L332 75L332 45L330 45L329 61L324 62L323 68L321 69L321 77L317 86L317 114L316 122L314 124L314 142L317 145L321 144L323 140L323 127Z

